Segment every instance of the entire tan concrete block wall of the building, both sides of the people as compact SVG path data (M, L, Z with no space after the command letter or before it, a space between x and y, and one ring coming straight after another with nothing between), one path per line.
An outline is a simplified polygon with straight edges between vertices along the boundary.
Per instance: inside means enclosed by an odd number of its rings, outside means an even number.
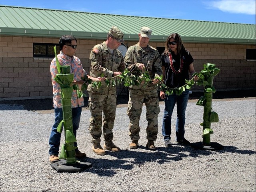
M52 98L52 58L33 58L33 43L58 41L59 38L0 36L0 98ZM103 41L78 39L76 56L88 74L90 51ZM125 42L128 47L136 43ZM164 42L150 42L150 45L164 47ZM221 70L214 78L217 91L255 88L255 61L246 61L246 49L255 49L255 45L184 43L184 46L195 60L196 72L200 72L206 62L216 64ZM192 90L202 91L202 87L194 86ZM127 89L118 86L118 94L127 94Z

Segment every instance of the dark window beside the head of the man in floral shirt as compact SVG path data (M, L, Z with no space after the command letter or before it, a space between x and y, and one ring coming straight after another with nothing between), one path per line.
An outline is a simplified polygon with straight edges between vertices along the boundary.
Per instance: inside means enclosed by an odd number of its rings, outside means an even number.
M60 46L58 44L50 43L33 43L33 56L42 58L53 58L54 46L56 45L56 53L60 52Z

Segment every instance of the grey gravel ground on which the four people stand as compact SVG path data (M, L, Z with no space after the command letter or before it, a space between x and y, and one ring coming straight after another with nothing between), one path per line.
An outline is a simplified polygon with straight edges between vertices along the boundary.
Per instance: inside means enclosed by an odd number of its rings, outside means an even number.
M203 107L190 100L186 110L185 137L202 141ZM161 134L163 102L158 116L156 151L146 145L146 108L140 119L140 148L128 148L127 106L116 110L113 142L122 151L98 156L92 152L88 130L90 111L82 110L77 133L80 151L92 167L62 173L50 166L48 140L52 110L28 111L22 105L0 104L0 191L256 191L255 97L213 100L219 122L212 123L211 142L222 150L197 150L175 142L166 148ZM174 110L173 118L176 110ZM62 134L61 144L64 143ZM102 146L104 142L101 142Z

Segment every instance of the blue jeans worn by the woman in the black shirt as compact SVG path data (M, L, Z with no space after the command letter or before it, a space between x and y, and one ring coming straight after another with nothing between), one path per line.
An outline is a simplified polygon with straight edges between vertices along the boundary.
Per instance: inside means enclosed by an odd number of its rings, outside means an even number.
M171 136L171 120L172 112L175 104L177 104L177 120L176 120L176 141L183 140L185 134L185 111L188 104L189 90L185 90L181 95L166 95L164 99L164 117L162 125L162 135L164 141L170 140Z

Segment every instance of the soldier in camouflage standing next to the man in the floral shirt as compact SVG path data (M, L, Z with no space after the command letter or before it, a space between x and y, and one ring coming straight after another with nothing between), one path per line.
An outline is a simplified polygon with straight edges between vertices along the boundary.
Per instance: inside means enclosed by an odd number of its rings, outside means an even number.
M122 74L125 69L122 53L117 49L123 40L124 33L116 26L112 26L107 35L106 42L98 44L92 48L90 53L91 68L90 76L110 78ZM106 86L102 82L100 88L88 85L89 108L92 114L89 122L90 134L92 136L92 150L98 155L105 155L105 150L119 152L113 142L114 120L116 118L116 86ZM102 134L102 111L103 111L103 136L105 140L104 150L100 145Z

